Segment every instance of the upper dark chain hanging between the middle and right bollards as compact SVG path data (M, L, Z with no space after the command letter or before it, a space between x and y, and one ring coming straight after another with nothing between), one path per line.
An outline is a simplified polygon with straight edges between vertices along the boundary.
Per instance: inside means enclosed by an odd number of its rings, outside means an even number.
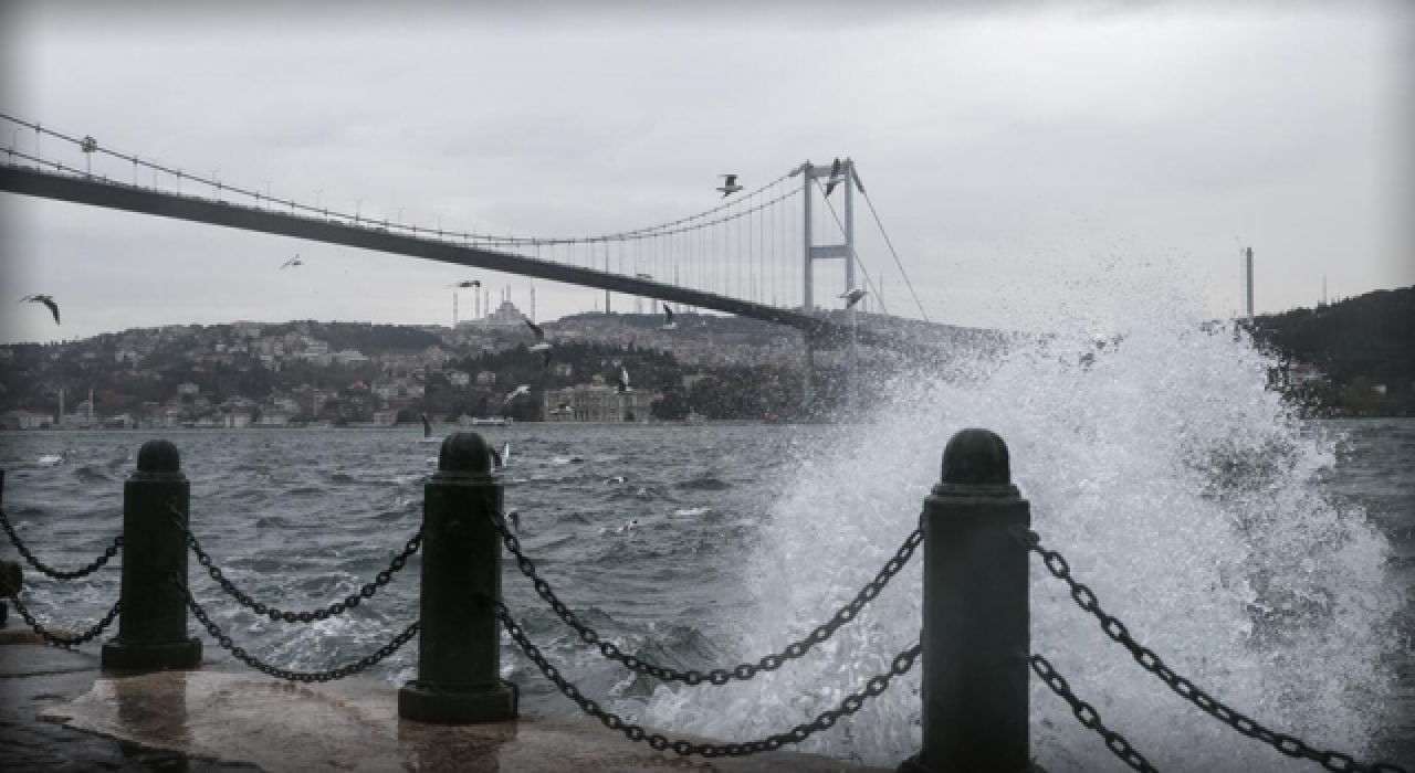
M516 565L521 568L521 574L526 575L526 578L531 579L531 582L535 585L536 594L539 594L541 598L550 605L550 609L553 609L555 613L562 620L565 620L565 625L573 627L576 633L580 635L582 642L599 647L600 653L604 657L621 663L625 668L634 673L654 677L662 681L678 681L692 685L702 683L723 685L733 680L747 681L756 677L761 671L775 671L787 661L805 656L805 653L808 653L811 647L826 642L828 639L831 639L831 636L835 636L835 632L839 630L841 626L853 620L860 613L860 609L863 609L866 603L874 601L874 598L880 595L880 591L884 589L884 585L887 585L889 581L893 579L894 575L897 575L904 568L904 565L908 564L910 557L914 555L914 550L920 545L920 543L924 541L923 530L916 529L914 533L904 540L904 544L900 545L894 557L884 562L884 568L882 568L879 574L874 575L874 579L867 582L865 588L860 589L860 592L856 594L853 599L850 599L849 603L836 610L836 613L831 618L829 622L816 626L815 630L812 630L805 639L799 642L792 642L791 644L787 644L785 649L782 649L780 653L764 656L756 663L743 663L733 667L732 670L713 668L712 671L702 673L693 670L679 671L668 666L645 663L638 657L634 657L631 654L624 654L618 649L618 646L616 646L613 642L604 640L604 637L600 636L597 630L584 625L574 615L574 612L572 612L570 608L566 606L559 596L556 596L550 585L545 579L542 579L539 574L536 574L535 562L531 561L531 558L528 558L525 553L521 553L521 540L518 540L516 536L507 529L505 517L502 517L499 513L491 513L491 523L497 527L497 531L501 533L501 540L507 544L507 550L511 551L511 555L515 557Z

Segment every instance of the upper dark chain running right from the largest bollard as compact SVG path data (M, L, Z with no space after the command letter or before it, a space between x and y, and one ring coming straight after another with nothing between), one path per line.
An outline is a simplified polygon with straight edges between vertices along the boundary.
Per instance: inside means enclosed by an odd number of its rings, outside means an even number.
M1101 609L1101 602L1095 596L1095 592L1071 577L1071 567L1067 564L1065 558L1063 558L1060 553L1043 547L1041 537L1039 537L1036 531L1013 527L1012 536L1027 550L1041 557L1047 571L1071 588L1071 599L1075 601L1077 606L1099 620L1101 630L1104 630L1112 642L1125 647L1131 653L1131 657L1140 664L1140 668L1145 668L1150 674L1159 677L1159 680L1179 697L1194 704L1203 709L1204 714L1208 714L1214 719L1218 719L1248 738L1255 738L1272 746L1289 757L1307 759L1322 763L1322 767L1334 773L1407 773L1405 769L1398 765L1384 762L1367 765L1360 763L1350 755L1343 755L1341 752L1313 749L1302 739L1265 728L1255 719L1251 719L1242 712L1214 698L1204 690L1199 688L1194 683L1176 674L1174 670L1166 666L1153 650L1131 637L1131 632L1125 627L1125 623Z

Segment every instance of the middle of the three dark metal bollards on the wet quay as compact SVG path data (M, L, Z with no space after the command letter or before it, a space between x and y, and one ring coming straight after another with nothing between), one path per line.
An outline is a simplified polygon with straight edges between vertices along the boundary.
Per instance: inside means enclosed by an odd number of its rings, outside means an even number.
M443 441L423 495L422 630L417 678L398 691L398 716L471 725L516 716L516 688L501 680L501 482L475 432Z

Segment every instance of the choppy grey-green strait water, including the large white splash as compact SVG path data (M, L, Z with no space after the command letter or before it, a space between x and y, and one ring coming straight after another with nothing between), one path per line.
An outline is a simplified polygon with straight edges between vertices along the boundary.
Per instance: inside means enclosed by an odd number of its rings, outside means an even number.
M1090 367L1078 336L901 377L849 427L488 428L509 441L507 502L524 543L583 619L627 651L730 666L804 636L913 529L947 438L983 425L1012 448L1043 538L1131 632L1218 698L1313 745L1415 760L1415 421L1302 423L1262 390L1266 360L1193 326L1131 329ZM140 432L0 435L10 517L54 564L116 534ZM369 579L417 527L436 447L405 431L183 431L192 527L228 575L287 608ZM64 454L57 464L45 455ZM623 483L610 482L624 476ZM631 519L640 526L620 529ZM0 555L13 558L6 545ZM259 656L323 668L416 615L415 558L352 613L258 620L202 575L192 586ZM508 603L584 691L634 719L758 738L809 719L917 637L910 567L802 663L753 683L662 687L591 656L508 565ZM1033 567L1033 644L1162 770L1295 770L1139 670ZM28 572L33 606L88 623L117 571L61 585ZM525 707L574 708L504 643ZM219 651L208 642L208 651ZM409 646L376 675L412 675ZM1119 770L1040 684L1033 746L1050 770ZM918 677L809 749L893 763L918 745Z

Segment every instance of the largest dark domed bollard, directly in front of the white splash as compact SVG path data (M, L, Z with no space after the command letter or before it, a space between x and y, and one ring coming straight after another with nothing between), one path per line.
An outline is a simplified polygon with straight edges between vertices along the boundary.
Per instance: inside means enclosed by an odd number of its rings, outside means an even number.
M1032 510L1007 445L964 430L924 500L924 745L901 773L1022 773L1027 738Z

